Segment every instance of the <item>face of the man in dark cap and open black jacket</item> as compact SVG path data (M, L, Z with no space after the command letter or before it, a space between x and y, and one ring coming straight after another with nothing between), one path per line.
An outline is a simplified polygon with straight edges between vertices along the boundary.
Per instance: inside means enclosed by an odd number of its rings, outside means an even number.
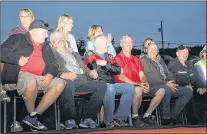
M33 30L33 34L35 37L32 38L37 43L44 43L45 39L48 37L48 31L42 28L37 28Z

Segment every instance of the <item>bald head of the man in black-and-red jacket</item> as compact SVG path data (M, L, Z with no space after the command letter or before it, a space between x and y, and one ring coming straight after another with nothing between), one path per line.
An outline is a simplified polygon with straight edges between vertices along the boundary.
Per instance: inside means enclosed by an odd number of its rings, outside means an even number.
M106 53L108 51L108 39L105 35L97 36L93 42L95 52Z

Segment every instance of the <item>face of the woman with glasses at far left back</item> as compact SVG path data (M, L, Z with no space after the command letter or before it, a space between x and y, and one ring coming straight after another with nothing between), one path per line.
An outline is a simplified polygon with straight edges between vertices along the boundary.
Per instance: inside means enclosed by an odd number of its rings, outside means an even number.
M27 12L24 12L22 11L19 15L19 19L20 19L20 23L21 25L28 29L30 24L32 23L32 17L27 13Z

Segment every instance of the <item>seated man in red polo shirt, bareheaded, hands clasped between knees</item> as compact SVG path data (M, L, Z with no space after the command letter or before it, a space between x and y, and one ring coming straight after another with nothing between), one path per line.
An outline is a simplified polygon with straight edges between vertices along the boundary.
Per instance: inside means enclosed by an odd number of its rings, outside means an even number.
M134 100L132 106L132 122L134 126L156 125L151 116L154 109L160 104L164 89L150 89L144 69L140 60L131 54L133 39L130 35L123 36L121 39L122 51L115 57L116 62L122 68L122 73L115 76L116 82L126 82L135 85ZM142 92L146 95L154 96L143 118L138 115L138 110L142 101ZM145 95L144 94L144 95Z

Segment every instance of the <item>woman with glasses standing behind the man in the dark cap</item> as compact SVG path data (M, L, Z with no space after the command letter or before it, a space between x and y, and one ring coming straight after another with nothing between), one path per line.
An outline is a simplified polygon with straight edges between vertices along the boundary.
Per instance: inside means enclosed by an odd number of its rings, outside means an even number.
M19 20L20 20L20 26L13 28L9 32L9 36L13 34L25 34L28 32L30 24L34 21L34 13L29 8L24 8L19 12Z

